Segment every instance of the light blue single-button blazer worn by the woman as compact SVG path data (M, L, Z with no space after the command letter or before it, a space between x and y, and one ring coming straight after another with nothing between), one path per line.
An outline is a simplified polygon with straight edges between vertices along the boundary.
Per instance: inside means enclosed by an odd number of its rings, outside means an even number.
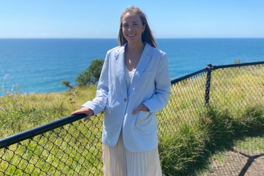
M104 110L103 143L115 146L121 129L123 141L130 152L149 151L158 146L157 115L168 103L171 82L166 53L145 43L144 51L135 69L130 87L126 89L125 46L107 52L96 97L82 107L94 114ZM149 112L132 112L141 104Z

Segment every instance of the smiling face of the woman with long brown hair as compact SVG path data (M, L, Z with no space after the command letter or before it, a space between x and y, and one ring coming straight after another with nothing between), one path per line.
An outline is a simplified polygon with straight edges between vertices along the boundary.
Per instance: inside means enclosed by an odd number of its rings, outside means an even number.
M141 35L145 30L138 14L126 13L122 20L123 35L128 43L142 42Z

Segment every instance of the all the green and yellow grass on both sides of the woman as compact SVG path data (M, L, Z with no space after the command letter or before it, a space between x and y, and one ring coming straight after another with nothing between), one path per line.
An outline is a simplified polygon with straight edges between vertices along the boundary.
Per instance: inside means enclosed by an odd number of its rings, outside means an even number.
M206 176L212 172L210 163L221 165L223 153L232 148L263 154L263 77L260 66L214 70L209 106L204 105L206 75L173 85L168 105L157 113L163 174ZM90 86L1 97L0 138L68 116L95 92ZM0 175L102 175L102 120L74 122L1 149Z

